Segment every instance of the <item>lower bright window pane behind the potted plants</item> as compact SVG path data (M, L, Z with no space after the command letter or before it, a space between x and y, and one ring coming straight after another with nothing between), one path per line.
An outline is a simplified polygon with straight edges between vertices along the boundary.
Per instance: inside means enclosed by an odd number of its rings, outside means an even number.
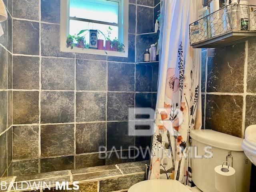
M94 29L94 30L100 30L106 37L108 37L108 27L112 28L110 39L113 40L114 38L118 38L118 27L117 26L109 26L104 24L98 24L98 23L89 23L84 21L77 21L77 20L70 20L69 25L69 34L75 35L80 32L80 30L84 29ZM89 31L84 32L82 36L85 36L85 40L87 43L89 43ZM105 40L104 36L100 33L98 34L98 39Z

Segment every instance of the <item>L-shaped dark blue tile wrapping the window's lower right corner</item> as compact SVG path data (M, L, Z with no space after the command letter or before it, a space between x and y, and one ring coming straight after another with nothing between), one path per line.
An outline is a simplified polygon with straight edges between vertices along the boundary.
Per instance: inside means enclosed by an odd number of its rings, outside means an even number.
M124 45L127 46L127 45ZM114 57L109 56L108 61L118 61L118 62L135 62L135 35L128 34L128 57Z

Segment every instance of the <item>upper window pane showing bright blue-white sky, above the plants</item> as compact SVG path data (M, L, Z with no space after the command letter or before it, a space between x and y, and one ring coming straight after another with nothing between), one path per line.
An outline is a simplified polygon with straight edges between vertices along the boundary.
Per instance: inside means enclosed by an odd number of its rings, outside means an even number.
M107 0L70 0L70 16L118 23L118 2Z

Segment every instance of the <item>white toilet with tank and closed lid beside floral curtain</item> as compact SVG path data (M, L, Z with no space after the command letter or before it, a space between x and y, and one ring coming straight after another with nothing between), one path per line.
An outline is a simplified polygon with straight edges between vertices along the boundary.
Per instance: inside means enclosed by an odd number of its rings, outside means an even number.
M192 130L191 136L191 168L192 181L196 187L189 188L176 180L147 180L132 186L128 192L218 192L215 188L214 168L228 161L236 170L236 192L250 191L251 162L242 149L242 138L216 132L214 130ZM205 147L211 147L210 158L204 156ZM193 158L194 157L194 158Z

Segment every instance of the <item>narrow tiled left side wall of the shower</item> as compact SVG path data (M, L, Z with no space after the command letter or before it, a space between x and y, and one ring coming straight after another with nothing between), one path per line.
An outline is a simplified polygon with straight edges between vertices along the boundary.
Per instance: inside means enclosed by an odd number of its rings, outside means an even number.
M8 19L0 37L0 177L12 174L12 1L4 0Z

